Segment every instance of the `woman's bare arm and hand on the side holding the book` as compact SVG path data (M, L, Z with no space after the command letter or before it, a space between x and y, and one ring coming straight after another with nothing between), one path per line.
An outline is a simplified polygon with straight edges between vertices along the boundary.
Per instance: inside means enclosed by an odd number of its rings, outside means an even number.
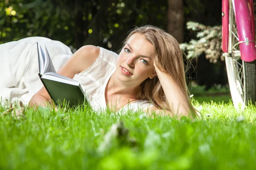
M58 70L58 74L73 79L75 74L78 74L89 68L96 58L99 56L99 47L94 45L85 45L79 48L70 59ZM29 106L47 106L50 101L50 96L46 89L42 87L34 96L32 96Z

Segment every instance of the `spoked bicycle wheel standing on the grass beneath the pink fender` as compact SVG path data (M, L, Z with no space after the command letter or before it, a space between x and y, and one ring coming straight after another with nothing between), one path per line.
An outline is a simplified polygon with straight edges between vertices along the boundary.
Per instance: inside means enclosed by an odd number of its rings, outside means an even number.
M241 60L235 14L232 1L229 6L229 42L228 56L225 56L227 77L233 104L236 108L256 102L256 60Z

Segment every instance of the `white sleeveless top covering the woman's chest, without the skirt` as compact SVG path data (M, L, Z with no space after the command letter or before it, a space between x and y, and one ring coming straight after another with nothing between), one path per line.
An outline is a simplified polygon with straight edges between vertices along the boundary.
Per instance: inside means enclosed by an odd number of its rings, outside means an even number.
M94 111L103 111L107 108L105 100L105 88L116 70L116 60L118 54L109 51L105 48L99 47L99 57L93 62L90 68L76 74L73 79L79 81L82 89L85 92L86 98ZM128 103L119 109L119 113L132 109L133 111L145 110L153 107L148 100L136 100Z

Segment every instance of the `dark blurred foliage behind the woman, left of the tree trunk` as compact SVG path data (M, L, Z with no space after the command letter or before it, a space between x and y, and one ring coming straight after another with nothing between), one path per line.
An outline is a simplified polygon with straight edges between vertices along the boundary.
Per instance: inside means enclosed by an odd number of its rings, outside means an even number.
M165 0L0 0L0 44L41 36L117 51L134 26L166 28L166 6Z

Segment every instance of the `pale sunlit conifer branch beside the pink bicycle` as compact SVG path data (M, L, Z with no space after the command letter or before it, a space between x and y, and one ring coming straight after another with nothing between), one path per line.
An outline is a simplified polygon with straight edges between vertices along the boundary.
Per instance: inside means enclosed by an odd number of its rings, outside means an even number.
M187 29L197 32L198 40L180 44L183 51L187 51L188 58L197 58L201 54L210 62L216 63L218 59L224 60L221 50L221 26L204 26L203 24L189 21Z

